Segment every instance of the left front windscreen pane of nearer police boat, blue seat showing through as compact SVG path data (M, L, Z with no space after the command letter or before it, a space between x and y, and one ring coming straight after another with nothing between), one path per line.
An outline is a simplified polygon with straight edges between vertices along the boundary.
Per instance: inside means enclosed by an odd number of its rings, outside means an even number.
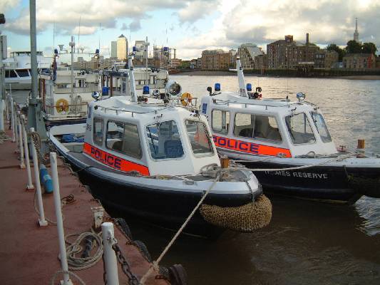
M148 125L146 136L153 159L183 157L183 146L174 120Z

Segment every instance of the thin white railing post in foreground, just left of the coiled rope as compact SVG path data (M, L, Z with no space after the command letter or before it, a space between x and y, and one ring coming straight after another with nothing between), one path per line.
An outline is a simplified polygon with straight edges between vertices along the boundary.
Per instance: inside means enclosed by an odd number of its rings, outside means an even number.
M61 281L61 284L72 285L73 283L70 280L70 276L68 275L68 273L66 273L68 272L68 264L67 264L67 254L66 254L66 246L65 246L65 232L63 230L61 195L59 194L56 152L50 152L50 165L51 165L51 179L53 180L54 206L56 208L59 253L61 254L61 267L63 270L63 281Z

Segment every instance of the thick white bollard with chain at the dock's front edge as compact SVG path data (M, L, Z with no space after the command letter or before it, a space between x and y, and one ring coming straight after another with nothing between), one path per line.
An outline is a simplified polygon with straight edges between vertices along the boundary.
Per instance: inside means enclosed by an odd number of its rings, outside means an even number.
M106 280L108 285L119 285L118 261L112 248L115 243L113 223L104 222L102 224L102 238L104 251L104 268L106 269Z

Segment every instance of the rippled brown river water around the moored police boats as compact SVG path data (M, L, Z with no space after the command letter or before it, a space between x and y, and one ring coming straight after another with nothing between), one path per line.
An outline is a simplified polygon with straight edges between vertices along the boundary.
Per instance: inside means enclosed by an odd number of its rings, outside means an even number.
M236 76L171 76L194 97L207 86L237 90ZM324 113L336 145L380 153L380 81L246 76L267 98L299 91ZM380 284L380 199L342 206L271 197L272 222L252 234L225 232L216 241L180 237L161 262L183 264L189 284ZM173 232L127 221L153 259Z

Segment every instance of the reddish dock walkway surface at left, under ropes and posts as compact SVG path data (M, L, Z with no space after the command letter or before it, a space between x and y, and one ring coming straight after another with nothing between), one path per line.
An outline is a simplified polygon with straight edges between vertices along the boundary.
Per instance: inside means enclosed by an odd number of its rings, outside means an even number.
M11 133L7 131L11 137ZM53 224L38 226L34 210L34 191L26 191L26 170L19 168L20 161L14 152L16 143L6 141L0 144L0 284L51 284L56 271L61 270L58 260L58 232ZM62 162L60 162L62 164ZM50 169L48 169L50 172ZM34 181L34 169L31 167ZM65 235L90 232L93 224L91 207L98 206L70 170L58 167L61 198L73 195L75 202L62 208ZM45 216L56 220L53 194L43 195ZM106 220L106 219L105 219ZM115 227L118 245L131 266L133 274L140 279L150 266L137 247L128 244L128 239ZM69 240L73 242L76 237ZM67 247L67 245L66 245ZM103 260L90 269L73 271L86 284L104 284ZM118 266L120 284L127 284L128 278ZM56 284L63 279L58 276ZM71 277L73 284L79 284ZM150 276L147 284L168 284L165 280Z

